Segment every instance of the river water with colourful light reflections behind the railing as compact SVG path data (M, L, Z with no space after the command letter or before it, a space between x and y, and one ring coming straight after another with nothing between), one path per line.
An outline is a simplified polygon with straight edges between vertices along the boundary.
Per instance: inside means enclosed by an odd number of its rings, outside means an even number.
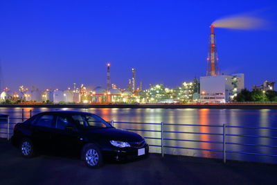
M21 118L21 108L0 108L0 114L8 114L10 117ZM77 110L82 112L91 112L98 114L106 121L120 122L139 122L139 123L177 123L177 124L195 124L195 125L233 125L233 126L251 126L251 127L277 127L277 110L276 109L118 109L118 108L24 108L24 116L29 117L29 111L33 114L44 111L55 110ZM12 119L11 123L20 122ZM123 129L137 130L161 130L160 125L138 125L115 123L115 127ZM222 134L222 127L200 127L200 126L181 126L165 125L166 131L178 132L203 132ZM142 132L139 134L145 137L160 138L160 132ZM226 134L244 134L260 136L277 136L277 130L249 129L249 128L226 128ZM211 150L222 150L222 143L205 143L197 141L222 141L222 136L208 134L180 134L166 133L166 139L186 139L192 141L165 141L165 146L177 146L186 148L202 148ZM227 143L247 143L267 146L277 146L277 139L245 137L245 136L226 136ZM152 145L161 145L161 139L148 139ZM227 144L227 151L265 153L277 155L277 148L265 146L240 146ZM150 152L161 152L159 147L151 147ZM205 150L190 150L178 148L166 148L166 154L188 155L195 157L212 157L222 158L222 152L213 152ZM277 164L277 157L265 157L261 155L246 155L226 153L227 159L258 161L265 163Z

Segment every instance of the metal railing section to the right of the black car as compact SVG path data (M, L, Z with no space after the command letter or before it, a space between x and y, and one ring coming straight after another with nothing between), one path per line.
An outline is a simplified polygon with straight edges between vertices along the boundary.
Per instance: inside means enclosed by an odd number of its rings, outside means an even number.
M165 148L179 148L179 149L186 149L186 150L206 150L211 152L222 152L222 159L224 163L226 163L226 154L227 153L236 153L236 154L243 154L243 155L261 155L267 157L277 157L277 155L271 155L267 153L256 153L256 152L242 152L242 151L232 151L226 150L227 145L239 145L239 146L254 146L254 147L268 147L268 148L277 148L275 145L261 145L261 144L251 144L251 143L233 143L227 142L230 136L238 136L238 137L254 137L254 138L267 138L267 139L277 139L277 136L260 136L260 135L246 135L246 134L228 134L226 131L227 129L231 130L232 128L239 128L239 129L251 129L251 130L277 130L277 127L246 127L246 126L233 126L233 125L196 125L196 124L176 124L176 123L134 123L134 122L116 122L111 121L111 125L116 124L139 124L139 125L161 125L160 130L142 130L142 129L125 129L134 132L160 132L161 137L146 137L145 139L160 139L161 145L149 145L154 147L161 147L161 156L164 156ZM166 125L173 125L173 126L190 126L190 127L221 127L222 133L206 133L206 132L183 132L183 131L166 131L164 127ZM206 134L211 136L222 136L222 141L202 141L202 140L191 140L191 139L172 139L172 138L165 138L165 133L176 133L176 134ZM181 146L166 146L164 141L188 141L188 142L200 142L200 143L216 143L222 144L222 150L217 149L208 149L208 148L188 148L188 147L181 147ZM277 141L277 140L276 140ZM276 142L277 143L277 142Z

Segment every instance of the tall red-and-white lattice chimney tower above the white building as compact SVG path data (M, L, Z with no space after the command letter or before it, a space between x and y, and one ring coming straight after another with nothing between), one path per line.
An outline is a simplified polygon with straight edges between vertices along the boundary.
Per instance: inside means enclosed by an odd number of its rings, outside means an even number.
M206 76L217 76L220 74L218 68L218 58L217 58L217 48L215 45L215 32L214 32L214 25L210 26L211 34L210 34L210 45L208 49L208 66Z

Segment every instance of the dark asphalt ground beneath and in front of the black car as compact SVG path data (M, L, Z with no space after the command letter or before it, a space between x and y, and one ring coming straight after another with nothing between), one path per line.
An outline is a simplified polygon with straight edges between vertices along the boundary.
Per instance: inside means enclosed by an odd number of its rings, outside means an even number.
M277 184L277 165L151 154L147 159L87 168L72 157L21 157L0 139L0 184Z

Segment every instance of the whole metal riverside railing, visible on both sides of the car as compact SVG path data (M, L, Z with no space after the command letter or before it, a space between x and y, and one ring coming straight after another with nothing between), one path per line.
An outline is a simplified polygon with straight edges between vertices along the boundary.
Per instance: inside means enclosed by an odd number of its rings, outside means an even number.
M31 113L30 113L31 115ZM5 132L7 134L7 139L10 139L11 132L10 130L13 129L14 125L16 123L10 123L10 120L25 120L26 118L10 118L7 117L7 127ZM228 153L235 153L235 154L242 154L242 155L260 155L260 156L267 156L267 157L277 157L277 155L269 154L269 153L263 153L263 152L245 152L245 151L233 151L233 150L227 150L227 146L229 145L236 145L236 146L251 146L251 147L266 147L266 148L277 148L277 145L275 145L277 142L274 142L274 145L262 145L257 143L238 143L238 142L229 142L230 137L247 137L247 138L264 138L264 139L277 139L277 136L261 136L261 135L253 135L253 134L231 134L230 131L234 128L236 129L250 129L250 130L276 130L277 127L249 127L249 126L233 126L233 125L199 125L199 124L177 124L177 123L136 123L136 122L120 122L120 121L110 121L112 126L120 126L120 128L123 128L125 130L129 130L132 132L144 132L143 135L145 135L147 132L152 133L159 133L160 136L153 137L153 136L145 136L145 139L158 139L161 141L161 144L150 144L150 147L160 147L161 148L161 156L163 157L165 154L166 148L177 148L177 149L184 149L184 150L199 150L199 151L210 151L210 152L221 152L222 153L222 160L224 163L226 162L226 154ZM133 129L133 128L127 128L124 127L125 124L128 125L157 125L157 128L159 130L145 130L145 129ZM123 126L123 127L122 127ZM187 131L172 131L172 130L166 130L166 126L178 126L178 127L210 127L210 128L220 128L217 132L187 132ZM1 127L0 127L1 128ZM184 129L181 129L184 130ZM229 131L229 132L227 132ZM174 139L170 137L166 137L165 134L197 134L197 135L208 135L208 136L218 136L220 138L220 141L204 141L204 140L197 140L197 139ZM0 132L0 134L3 134ZM217 138L218 140L218 138ZM166 145L165 141L186 141L186 142L195 142L195 143L214 143L214 144L220 144L222 145L222 149L212 149L212 148L193 148L193 147L184 147L184 146L171 146ZM277 140L276 140L277 141Z

